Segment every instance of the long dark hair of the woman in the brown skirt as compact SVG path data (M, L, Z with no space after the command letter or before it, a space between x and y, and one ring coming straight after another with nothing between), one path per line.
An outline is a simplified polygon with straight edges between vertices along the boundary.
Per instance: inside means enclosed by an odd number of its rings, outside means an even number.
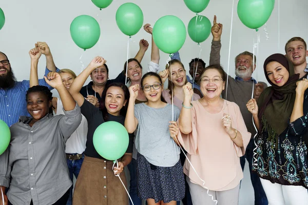
M104 118L105 121L108 119L108 111L107 111L107 108L106 108L106 105L105 105L105 100L106 100L107 90L110 87L119 87L124 92L124 100L127 100L127 102L126 102L126 105L123 106L123 108L120 110L120 115L122 115L124 117L126 116L126 112L127 112L127 108L128 108L128 101L129 101L129 96L130 96L127 86L125 86L122 83L112 83L112 84L109 84L108 86L106 86L106 88L104 89L104 91L102 93L102 98L101 98L101 101L100 101L100 110L103 113L103 118Z

